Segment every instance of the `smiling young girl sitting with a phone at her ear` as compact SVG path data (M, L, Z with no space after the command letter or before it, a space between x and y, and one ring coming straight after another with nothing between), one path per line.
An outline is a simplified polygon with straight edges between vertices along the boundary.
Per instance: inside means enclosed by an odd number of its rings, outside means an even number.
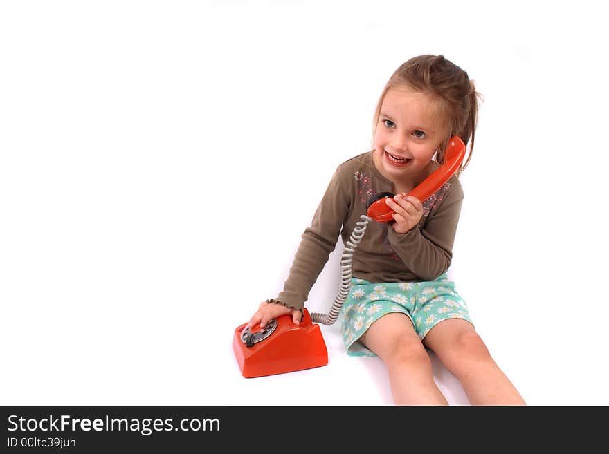
M406 196L444 161L458 135L473 151L478 93L467 73L442 55L402 64L374 114L374 149L340 164L302 234L276 299L260 303L248 325L291 314L299 323L309 290L340 234L351 236L376 193L395 211L371 221L353 256L353 280L342 308L343 339L352 356L379 356L395 404L447 404L433 380L429 348L463 385L471 404L525 404L475 332L465 301L446 276L463 191L457 176L427 200Z

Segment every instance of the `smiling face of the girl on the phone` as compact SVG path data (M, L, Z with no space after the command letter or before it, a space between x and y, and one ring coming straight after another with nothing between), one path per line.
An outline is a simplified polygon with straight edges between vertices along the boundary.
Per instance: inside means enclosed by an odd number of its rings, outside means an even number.
M374 163L392 182L411 182L430 163L446 138L441 115L431 98L411 88L385 93L374 133Z

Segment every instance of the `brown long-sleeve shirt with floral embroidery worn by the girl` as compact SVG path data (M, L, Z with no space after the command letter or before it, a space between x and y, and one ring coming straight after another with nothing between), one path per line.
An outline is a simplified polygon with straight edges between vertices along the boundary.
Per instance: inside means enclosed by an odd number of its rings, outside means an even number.
M336 168L311 225L302 234L278 301L290 308L304 307L336 247L338 234L345 243L361 215L366 214L367 201L379 192L394 192L394 185L374 166L372 151ZM423 217L406 234L395 233L390 223L370 221L354 252L353 277L372 283L431 281L446 272L462 200L461 184L453 176L424 201Z

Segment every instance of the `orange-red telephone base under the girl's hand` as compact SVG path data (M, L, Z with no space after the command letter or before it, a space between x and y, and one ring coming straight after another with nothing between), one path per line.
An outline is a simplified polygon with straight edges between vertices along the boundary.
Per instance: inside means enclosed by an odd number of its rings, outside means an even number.
M239 325L233 335L235 358L246 378L316 368L328 363L319 325L311 321L306 308L300 325L293 323L291 315L280 316L275 331L251 347L246 346L241 337L246 325Z

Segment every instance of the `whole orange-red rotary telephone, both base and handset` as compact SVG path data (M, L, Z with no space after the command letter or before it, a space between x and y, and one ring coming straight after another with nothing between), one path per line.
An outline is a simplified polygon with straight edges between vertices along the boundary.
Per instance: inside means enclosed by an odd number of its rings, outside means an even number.
M465 144L458 136L451 138L446 147L444 164L412 189L408 196L415 196L424 202L440 189L460 168L465 149ZM392 221L393 210L385 198L393 196L388 192L374 196L367 204L367 216L379 223ZM337 315L336 311L340 307L335 306L336 302L332 311ZM264 328L257 326L250 330L247 323L239 325L233 334L233 351L239 369L246 378L315 368L328 363L328 352L319 325L313 323L306 308L302 311L302 321L298 325L292 322L291 315L273 319Z

